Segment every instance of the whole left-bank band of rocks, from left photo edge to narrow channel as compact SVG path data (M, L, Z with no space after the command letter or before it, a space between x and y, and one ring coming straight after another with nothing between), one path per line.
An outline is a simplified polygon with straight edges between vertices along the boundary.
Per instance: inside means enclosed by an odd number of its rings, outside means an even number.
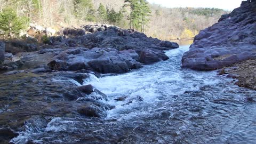
M141 63L147 65L167 60L169 57L164 50L179 47L177 43L161 41L133 29L126 30L111 25L64 28L58 33L47 30L31 26L28 31L28 35L31 35L30 43L28 40L5 42L5 52L10 58L3 62L4 67L1 69L15 69L23 65L25 68L33 68L33 73L51 70L125 73L140 68ZM46 44L34 42L33 38L38 39L37 35L41 34L58 36L44 37L47 38Z

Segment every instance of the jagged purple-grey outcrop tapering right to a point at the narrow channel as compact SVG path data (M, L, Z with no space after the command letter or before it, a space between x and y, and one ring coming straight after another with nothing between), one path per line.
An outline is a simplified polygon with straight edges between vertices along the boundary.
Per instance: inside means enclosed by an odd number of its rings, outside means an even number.
M143 64L167 60L163 50L177 43L149 38L135 30L110 25L89 25L64 29L63 37L51 37L50 45L68 47L48 64L52 70L92 70L98 73L125 73ZM58 50L58 49L57 49ZM50 49L41 50L41 53Z

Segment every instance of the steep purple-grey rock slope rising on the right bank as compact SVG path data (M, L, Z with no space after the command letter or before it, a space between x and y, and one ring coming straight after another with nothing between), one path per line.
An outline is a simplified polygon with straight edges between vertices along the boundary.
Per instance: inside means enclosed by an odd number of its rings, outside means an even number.
M182 67L212 70L248 59L256 59L256 0L242 2L201 30L183 55Z

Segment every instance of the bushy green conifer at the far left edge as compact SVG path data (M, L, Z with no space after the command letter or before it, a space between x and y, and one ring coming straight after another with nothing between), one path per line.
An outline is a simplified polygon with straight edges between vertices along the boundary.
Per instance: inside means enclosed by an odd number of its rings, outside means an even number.
M5 35L12 38L18 36L20 30L24 28L23 21L25 18L18 18L17 14L12 9L4 9L0 13L0 29L5 31Z

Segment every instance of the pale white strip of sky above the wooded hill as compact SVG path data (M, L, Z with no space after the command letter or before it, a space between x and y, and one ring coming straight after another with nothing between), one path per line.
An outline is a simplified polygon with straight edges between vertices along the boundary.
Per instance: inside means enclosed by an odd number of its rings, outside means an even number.
M241 5L242 0L148 0L148 2L164 7L214 7L232 11Z

